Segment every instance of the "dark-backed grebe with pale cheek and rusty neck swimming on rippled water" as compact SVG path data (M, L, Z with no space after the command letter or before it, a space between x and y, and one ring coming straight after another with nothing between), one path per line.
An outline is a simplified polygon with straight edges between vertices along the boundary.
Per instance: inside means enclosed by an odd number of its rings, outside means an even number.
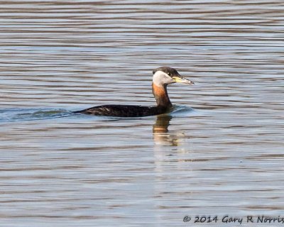
M173 84L175 82L194 84L189 79L182 77L177 70L171 67L159 67L158 69L153 70L152 83L152 91L157 106L103 105L94 106L82 111L75 111L75 113L120 117L141 117L165 114L173 109L173 104L168 97L167 86L168 84Z

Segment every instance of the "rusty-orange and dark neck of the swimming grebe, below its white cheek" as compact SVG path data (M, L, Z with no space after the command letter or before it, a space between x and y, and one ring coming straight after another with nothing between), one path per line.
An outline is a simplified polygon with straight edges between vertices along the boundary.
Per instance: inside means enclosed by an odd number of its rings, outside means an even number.
M168 97L167 85L152 84L153 95L158 107L170 109L173 105Z

